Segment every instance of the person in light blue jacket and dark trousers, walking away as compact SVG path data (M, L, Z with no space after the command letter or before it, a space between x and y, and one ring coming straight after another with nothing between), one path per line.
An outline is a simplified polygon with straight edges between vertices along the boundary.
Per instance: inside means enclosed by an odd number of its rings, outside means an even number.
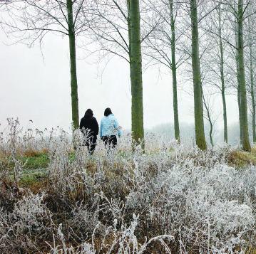
M113 115L111 109L108 107L104 112L104 117L100 125L100 137L106 147L116 147L118 142L117 136L121 137L122 128L118 125L116 117Z

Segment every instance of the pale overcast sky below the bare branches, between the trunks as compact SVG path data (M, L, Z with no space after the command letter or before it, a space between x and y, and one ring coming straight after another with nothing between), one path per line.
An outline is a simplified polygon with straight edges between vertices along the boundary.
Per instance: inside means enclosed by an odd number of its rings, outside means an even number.
M21 125L29 120L34 126L71 127L71 88L67 38L48 35L43 43L43 56L38 45L33 48L21 44L6 45L9 39L0 31L0 123L7 117L19 117ZM102 73L104 64L84 58L78 50L79 115L91 108L98 120L106 107L111 107L124 129L130 129L130 80L128 64L113 58ZM181 78L180 78L181 79ZM191 84L179 80L180 122L193 123L193 97L185 90ZM173 122L171 76L168 70L160 73L151 67L143 73L144 125L154 127ZM216 97L218 126L222 126L222 104ZM235 96L227 96L228 122L237 122Z

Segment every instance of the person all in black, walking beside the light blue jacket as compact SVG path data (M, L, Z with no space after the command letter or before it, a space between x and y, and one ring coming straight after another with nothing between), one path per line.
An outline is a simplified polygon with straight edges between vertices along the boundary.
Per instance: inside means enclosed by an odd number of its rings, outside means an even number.
M93 154L98 135L98 122L93 117L93 110L88 109L80 121L80 129L85 138L85 145L90 154Z

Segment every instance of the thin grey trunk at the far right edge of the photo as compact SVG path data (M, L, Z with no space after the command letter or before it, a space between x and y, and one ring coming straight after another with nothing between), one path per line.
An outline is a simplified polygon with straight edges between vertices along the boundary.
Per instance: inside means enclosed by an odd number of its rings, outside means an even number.
M249 20L249 33L250 33L250 94L252 100L252 140L256 142L256 125L255 125L255 92L254 92L254 75L253 75L253 56L252 56L252 33L251 33L251 20Z

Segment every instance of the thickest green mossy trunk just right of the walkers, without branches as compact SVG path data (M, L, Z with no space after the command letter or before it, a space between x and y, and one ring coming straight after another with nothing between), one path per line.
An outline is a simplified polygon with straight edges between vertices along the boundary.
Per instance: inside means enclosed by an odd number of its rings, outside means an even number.
M132 137L136 144L141 144L141 142L144 141L144 127L139 0L128 0L128 30L130 45L130 84L132 95ZM144 143L142 143L142 145L144 146Z

